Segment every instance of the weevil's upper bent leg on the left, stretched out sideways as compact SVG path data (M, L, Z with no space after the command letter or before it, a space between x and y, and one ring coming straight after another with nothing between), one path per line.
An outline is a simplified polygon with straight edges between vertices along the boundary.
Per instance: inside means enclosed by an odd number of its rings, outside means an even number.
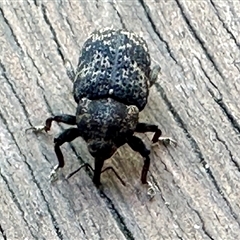
M76 117L73 115L68 115L68 114L61 114L61 115L57 115L54 117L50 117L46 120L45 122L45 126L36 126L36 127L31 127L28 128L26 131L32 129L36 132L41 132L41 131L45 131L48 132L51 128L52 122L61 122L61 123L66 123L69 125L76 125Z

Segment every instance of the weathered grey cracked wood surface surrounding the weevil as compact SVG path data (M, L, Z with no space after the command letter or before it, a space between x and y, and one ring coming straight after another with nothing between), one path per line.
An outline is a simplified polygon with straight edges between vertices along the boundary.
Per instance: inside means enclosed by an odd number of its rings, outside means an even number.
M234 0L0 1L0 239L239 239L239 16ZM24 132L75 112L63 59L76 66L109 26L142 35L162 68L142 119L178 147L152 150L152 201L129 147L106 162L127 187L104 173L98 191L87 171L51 185L53 138L68 126ZM64 174L93 165L81 139L62 149Z

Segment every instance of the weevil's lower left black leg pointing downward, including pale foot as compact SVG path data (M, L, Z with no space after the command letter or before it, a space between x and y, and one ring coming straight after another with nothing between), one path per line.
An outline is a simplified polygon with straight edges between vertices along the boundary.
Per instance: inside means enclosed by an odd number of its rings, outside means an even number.
M54 150L57 155L58 165L54 167L52 172L50 173L50 180L55 181L58 179L58 171L59 169L64 167L64 157L60 146L63 145L65 142L71 142L75 138L80 136L80 132L78 128L69 128L61 133L57 138L54 138Z

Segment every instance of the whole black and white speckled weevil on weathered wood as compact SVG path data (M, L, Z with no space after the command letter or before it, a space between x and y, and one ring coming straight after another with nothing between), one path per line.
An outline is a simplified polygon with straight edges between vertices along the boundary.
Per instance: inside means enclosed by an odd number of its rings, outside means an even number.
M64 166L60 146L82 137L95 159L93 182L96 186L100 185L104 161L125 143L144 158L141 181L147 183L150 151L134 132L153 132L153 143L174 142L160 138L158 126L138 121L139 112L147 104L149 88L160 72L158 65L151 70L150 64L146 42L134 33L126 30L92 33L83 45L76 72L71 64L67 68L69 78L74 81L76 115L50 117L44 127L38 128L47 132L52 121L77 125L54 139L59 163L51 174L52 179L57 178L57 170Z

